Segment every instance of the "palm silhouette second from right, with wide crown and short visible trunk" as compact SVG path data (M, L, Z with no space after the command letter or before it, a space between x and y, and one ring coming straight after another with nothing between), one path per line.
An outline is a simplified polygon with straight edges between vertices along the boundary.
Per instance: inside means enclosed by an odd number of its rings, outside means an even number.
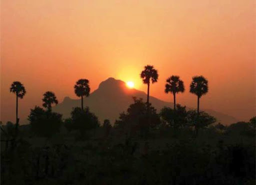
M176 93L182 93L184 91L184 82L181 79L179 79L179 76L172 75L166 79L164 92L170 92L173 94L174 110L176 109Z

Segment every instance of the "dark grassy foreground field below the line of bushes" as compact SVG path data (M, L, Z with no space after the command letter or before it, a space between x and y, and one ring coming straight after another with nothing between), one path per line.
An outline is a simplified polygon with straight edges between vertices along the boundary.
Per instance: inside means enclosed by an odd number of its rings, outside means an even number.
M102 126L38 137L23 125L18 141L1 142L1 184L255 184L255 130L245 124L197 136L160 127L146 138Z

